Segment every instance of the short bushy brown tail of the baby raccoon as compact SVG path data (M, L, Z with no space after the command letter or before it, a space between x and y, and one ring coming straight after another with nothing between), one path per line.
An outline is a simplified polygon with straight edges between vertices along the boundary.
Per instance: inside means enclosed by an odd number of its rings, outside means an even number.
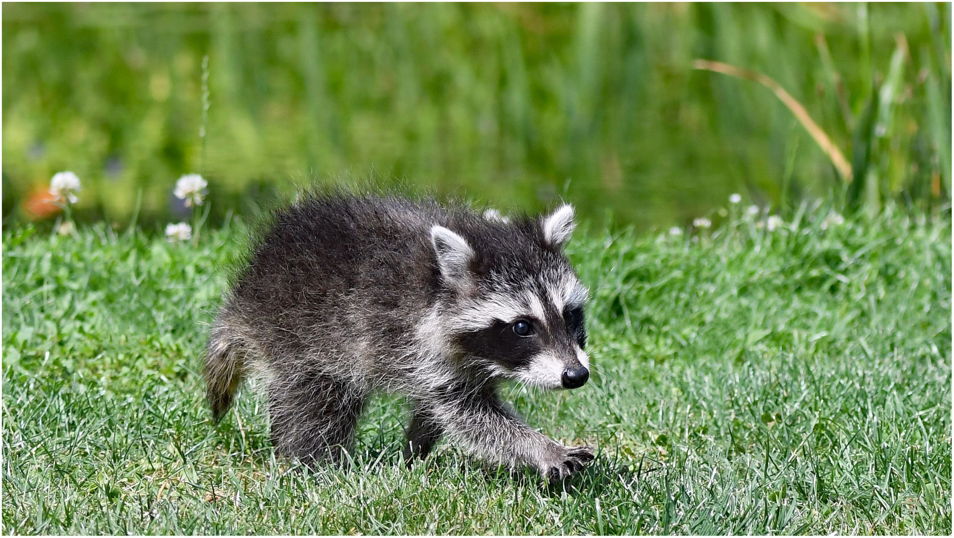
M235 334L217 322L205 350L206 395L217 423L229 410L242 381L245 356L242 348Z

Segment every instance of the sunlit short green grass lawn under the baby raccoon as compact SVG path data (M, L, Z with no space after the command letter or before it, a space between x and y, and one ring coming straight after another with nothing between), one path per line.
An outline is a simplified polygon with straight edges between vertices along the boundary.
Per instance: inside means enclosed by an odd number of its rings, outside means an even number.
M247 393L213 426L200 353L237 221L197 248L9 231L3 531L949 534L950 221L888 209L578 233L592 381L510 391L530 424L599 446L565 488L448 445L405 469L391 400L353 466L315 475L275 460Z

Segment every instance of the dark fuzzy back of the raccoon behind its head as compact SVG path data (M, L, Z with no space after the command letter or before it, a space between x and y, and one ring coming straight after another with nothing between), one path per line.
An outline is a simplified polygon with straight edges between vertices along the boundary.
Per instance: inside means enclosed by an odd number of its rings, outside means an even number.
M400 331L440 288L429 228L436 204L314 197L276 216L233 289L259 322L301 334ZM400 326L395 326L395 323ZM305 335L301 335L305 336Z

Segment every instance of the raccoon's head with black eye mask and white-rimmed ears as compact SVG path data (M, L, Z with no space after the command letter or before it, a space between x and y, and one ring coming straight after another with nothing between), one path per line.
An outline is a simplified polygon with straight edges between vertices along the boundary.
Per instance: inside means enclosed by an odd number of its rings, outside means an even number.
M468 366L542 388L587 382L588 293L563 253L574 227L564 205L546 217L485 214L431 228L446 292L434 322Z

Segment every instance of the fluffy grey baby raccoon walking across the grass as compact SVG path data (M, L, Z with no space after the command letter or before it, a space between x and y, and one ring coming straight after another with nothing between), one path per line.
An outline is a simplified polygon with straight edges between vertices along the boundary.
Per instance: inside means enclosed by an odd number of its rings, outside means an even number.
M246 374L265 381L271 438L314 466L340 461L373 391L411 404L404 456L446 435L550 481L593 458L524 424L504 380L577 388L586 288L563 246L575 226L548 217L399 197L310 197L281 212L228 294L205 360L218 421Z

